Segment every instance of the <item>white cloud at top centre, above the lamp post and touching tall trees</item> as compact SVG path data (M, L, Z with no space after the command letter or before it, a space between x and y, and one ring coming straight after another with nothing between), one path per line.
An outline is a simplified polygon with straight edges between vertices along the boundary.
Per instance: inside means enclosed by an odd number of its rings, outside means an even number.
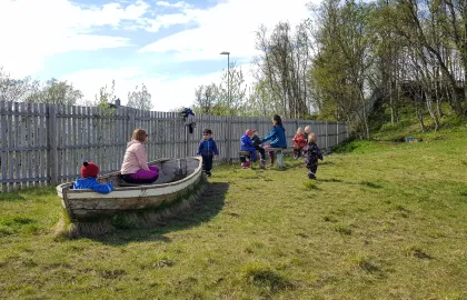
M294 27L309 17L308 2L228 0L207 10L183 9L185 19L180 17L179 21L195 22L198 27L148 44L140 52L176 51L178 61L218 59L220 51L251 58L256 54L256 31L261 23L271 29L279 21L289 21Z

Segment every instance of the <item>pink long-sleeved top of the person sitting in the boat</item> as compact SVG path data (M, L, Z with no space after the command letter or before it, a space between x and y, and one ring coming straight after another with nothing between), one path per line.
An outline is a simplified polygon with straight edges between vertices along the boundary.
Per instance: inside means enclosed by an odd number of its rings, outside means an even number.
M123 163L121 164L121 174L133 174L139 170L148 170L148 154L145 144L137 140L127 143Z

